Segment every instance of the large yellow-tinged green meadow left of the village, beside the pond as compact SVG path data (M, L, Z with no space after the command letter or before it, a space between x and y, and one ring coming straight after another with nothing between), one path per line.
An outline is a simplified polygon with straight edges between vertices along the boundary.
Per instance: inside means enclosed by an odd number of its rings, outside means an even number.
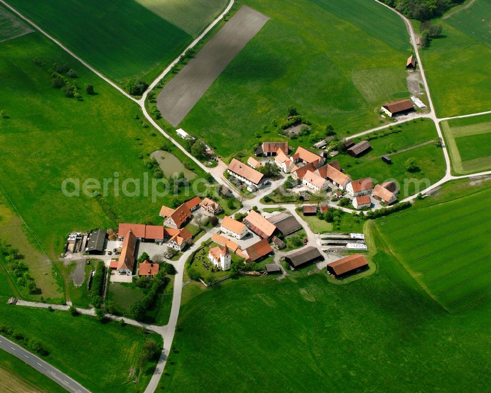
M44 65L36 65L34 57ZM93 83L97 94L81 89L83 99L77 101L52 88L48 69L54 62L68 62L79 75L78 85ZM147 154L166 142L164 137L140 119L136 104L40 33L0 43L0 70L0 108L7 115L0 119L0 184L50 257L62 252L73 230L114 228L118 222L162 222L163 204L193 196L192 188L186 195L180 187L179 195L152 200L157 194L152 193L152 172L144 162ZM198 178L204 176L181 151L172 146L170 151ZM144 194L146 176L148 196ZM63 194L62 182L70 178L80 180L80 197ZM101 186L110 179L107 196L102 188L100 196L86 196L82 186L89 178ZM126 179L139 181L139 192L130 182L125 196ZM114 190L116 181L119 185ZM73 187L69 184L67 190ZM160 186L157 189L163 191ZM198 190L204 191L204 186Z

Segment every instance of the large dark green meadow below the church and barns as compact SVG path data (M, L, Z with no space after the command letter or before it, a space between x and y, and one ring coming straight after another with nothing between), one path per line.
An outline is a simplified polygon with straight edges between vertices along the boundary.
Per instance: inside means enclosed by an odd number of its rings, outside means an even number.
M375 243L376 272L345 285L311 273L184 287L162 391L488 390L491 303L448 314Z

